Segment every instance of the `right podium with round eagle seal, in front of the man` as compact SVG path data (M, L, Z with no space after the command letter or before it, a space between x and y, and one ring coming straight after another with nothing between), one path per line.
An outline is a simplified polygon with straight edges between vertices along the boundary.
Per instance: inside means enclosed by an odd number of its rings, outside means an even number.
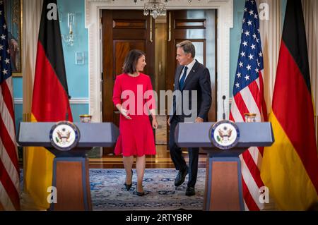
M240 154L274 142L271 123L179 123L179 147L201 147L208 153L204 210L245 210ZM261 193L260 193L261 194Z

